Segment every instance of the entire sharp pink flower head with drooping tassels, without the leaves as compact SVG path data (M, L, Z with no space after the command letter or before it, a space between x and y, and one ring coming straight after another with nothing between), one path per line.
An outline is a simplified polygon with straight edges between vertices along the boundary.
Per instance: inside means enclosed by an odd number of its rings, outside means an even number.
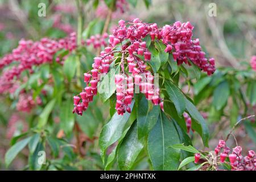
M119 26L112 35L109 35L109 47L106 47L99 57L94 58L91 73L84 74L87 86L80 93L80 97L74 97L73 113L82 115L82 112L88 108L89 102L93 101L93 96L97 94L100 75L109 72L110 65L115 60L115 53L121 55L121 73L115 75L117 87L115 109L118 114L123 115L126 111L130 113L129 105L134 96L134 85L138 86L139 91L144 93L154 105L160 104L162 100L159 95L160 89L155 88L153 72L146 69L150 65L152 54L147 43L143 41L146 36L150 36L152 42L163 42L166 45L164 52L170 53L177 65L195 64L208 75L212 75L215 71L214 59L205 58L199 39L192 39L192 30L193 26L189 22L175 22L173 25L159 28L156 23L143 23L139 19L128 23L120 20ZM116 50L119 44L121 51Z

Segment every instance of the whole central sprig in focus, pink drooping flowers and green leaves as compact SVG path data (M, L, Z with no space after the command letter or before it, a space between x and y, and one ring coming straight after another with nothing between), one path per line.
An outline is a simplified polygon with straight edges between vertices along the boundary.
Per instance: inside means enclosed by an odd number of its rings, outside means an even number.
M109 101L112 118L100 135L106 169L115 159L120 169L132 169L144 155L152 169L177 169L187 154L170 146L191 144L184 113L208 146L204 118L179 88L189 67L208 76L215 71L214 59L205 57L199 39L192 36L189 22L158 27L139 19L119 20L108 47L94 57L93 69L84 73L85 88L73 97L73 113L86 114L97 93Z

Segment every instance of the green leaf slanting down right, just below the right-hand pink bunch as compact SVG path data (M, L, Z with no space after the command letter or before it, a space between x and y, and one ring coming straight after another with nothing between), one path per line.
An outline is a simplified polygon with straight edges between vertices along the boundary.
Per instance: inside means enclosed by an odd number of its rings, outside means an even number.
M164 86L166 87L166 91L168 93L170 100L174 102L177 114L179 115L179 117L181 117L186 108L186 102L183 93L180 91L179 88L177 88L176 85L172 84L171 81L167 80L164 83Z

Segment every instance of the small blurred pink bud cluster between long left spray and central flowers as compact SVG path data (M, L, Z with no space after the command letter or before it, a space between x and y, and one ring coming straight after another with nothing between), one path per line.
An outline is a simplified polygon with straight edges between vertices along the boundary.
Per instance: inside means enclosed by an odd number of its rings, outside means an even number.
M108 38L108 34L104 33L102 36L100 34L90 36L90 39L86 40L86 46L93 45L94 49L106 47L108 44L106 43L106 38Z

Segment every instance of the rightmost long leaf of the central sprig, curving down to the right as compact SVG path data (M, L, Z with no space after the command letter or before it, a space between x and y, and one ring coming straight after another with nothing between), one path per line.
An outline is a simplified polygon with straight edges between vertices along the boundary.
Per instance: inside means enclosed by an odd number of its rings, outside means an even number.
M196 106L193 105L192 102L188 99L186 99L186 109L192 118L192 128L195 129L195 131L197 131L197 133L200 134L201 138L203 139L204 146L208 146L209 130L207 127L207 123L205 122L204 118L201 116L199 111L196 109ZM196 122L193 122L193 119L195 119ZM197 126L196 123L199 126Z

